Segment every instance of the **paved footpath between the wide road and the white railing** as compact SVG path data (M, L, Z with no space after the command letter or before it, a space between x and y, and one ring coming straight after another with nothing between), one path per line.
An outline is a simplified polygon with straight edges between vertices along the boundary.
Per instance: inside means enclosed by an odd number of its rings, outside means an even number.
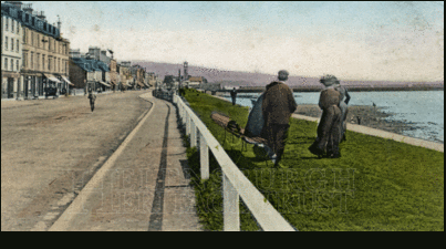
M50 230L200 230L176 107L162 100Z

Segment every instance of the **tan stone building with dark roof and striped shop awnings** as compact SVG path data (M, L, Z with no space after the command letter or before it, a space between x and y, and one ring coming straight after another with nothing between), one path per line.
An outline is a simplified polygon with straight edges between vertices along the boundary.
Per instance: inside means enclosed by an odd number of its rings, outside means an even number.
M49 87L56 89L56 95L69 91L72 84L69 80L70 41L61 37L61 22L58 27L50 24L43 11L33 11L31 3L2 3L2 11L17 18L22 27L21 80L17 95L23 98L44 96Z

